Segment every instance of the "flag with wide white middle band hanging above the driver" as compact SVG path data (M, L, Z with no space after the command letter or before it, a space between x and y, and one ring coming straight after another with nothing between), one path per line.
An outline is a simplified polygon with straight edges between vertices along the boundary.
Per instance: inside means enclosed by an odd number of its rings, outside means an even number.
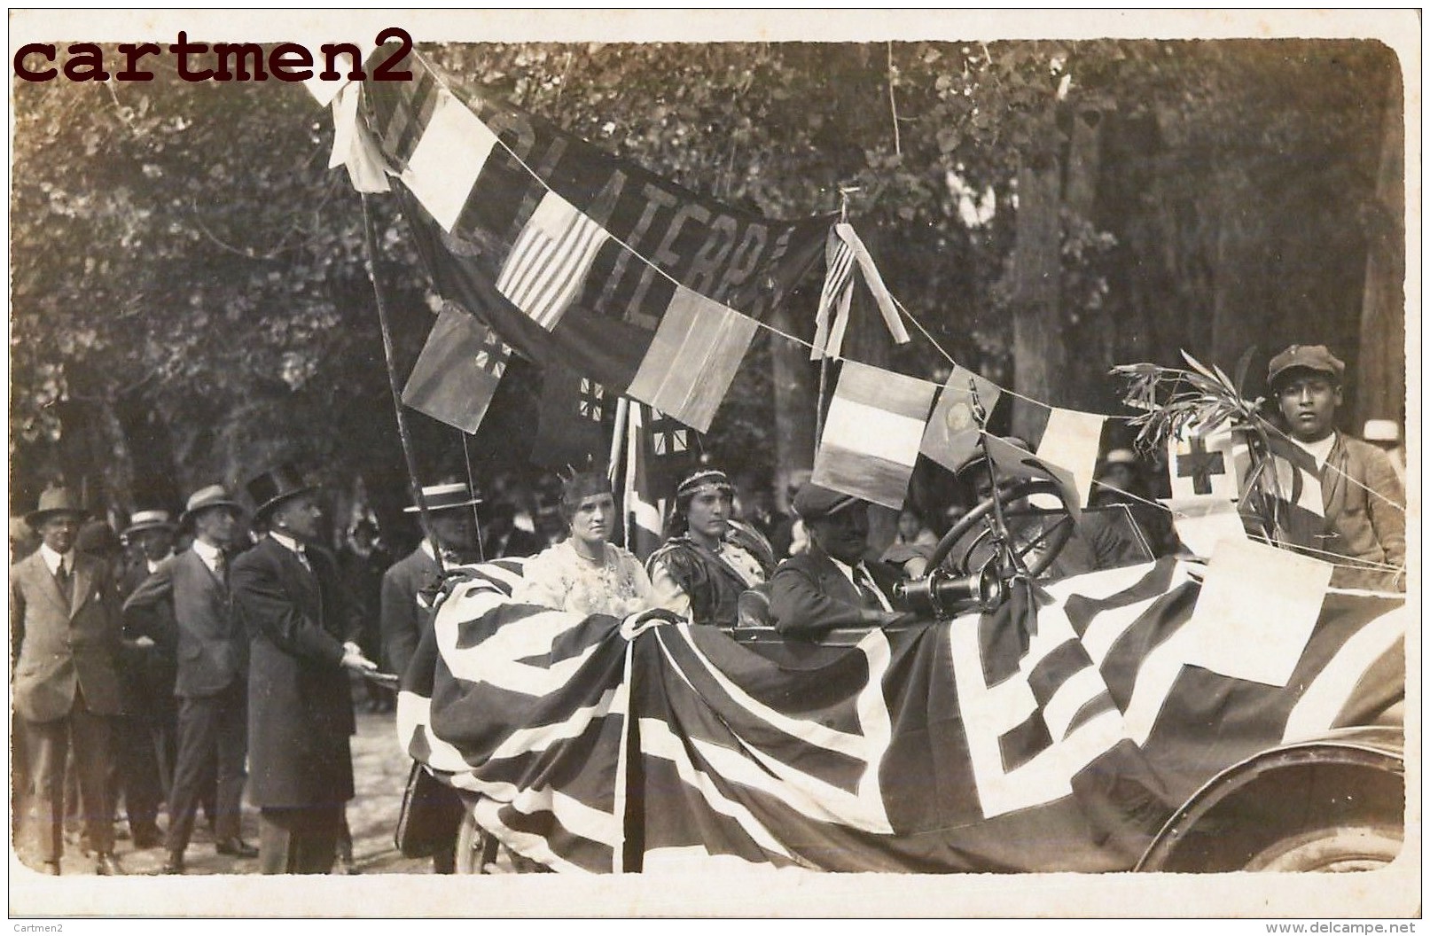
M938 384L844 362L811 482L887 507L904 506Z

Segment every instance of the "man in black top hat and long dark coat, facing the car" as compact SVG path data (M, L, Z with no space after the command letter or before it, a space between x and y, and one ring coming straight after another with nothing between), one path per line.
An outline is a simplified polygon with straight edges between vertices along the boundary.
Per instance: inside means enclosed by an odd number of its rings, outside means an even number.
M317 546L317 489L290 466L247 483L267 529L233 560L229 586L249 633L249 800L259 807L259 870L326 875L353 797L356 730L349 672L375 670L337 563Z

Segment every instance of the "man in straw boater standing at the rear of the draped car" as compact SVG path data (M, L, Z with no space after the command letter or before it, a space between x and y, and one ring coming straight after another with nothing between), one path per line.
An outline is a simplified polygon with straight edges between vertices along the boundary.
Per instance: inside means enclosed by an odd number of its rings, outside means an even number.
M422 633L432 627L432 612L423 593L438 584L443 569L475 560L476 522L472 507L482 500L472 496L472 489L463 482L432 484L422 489L422 502L428 517L426 537L382 576L383 656L399 676L406 672ZM406 512L416 513L418 507L406 507ZM459 809L450 812L460 816ZM448 832L450 835L432 853L432 870L438 875L456 870L453 849L458 827Z

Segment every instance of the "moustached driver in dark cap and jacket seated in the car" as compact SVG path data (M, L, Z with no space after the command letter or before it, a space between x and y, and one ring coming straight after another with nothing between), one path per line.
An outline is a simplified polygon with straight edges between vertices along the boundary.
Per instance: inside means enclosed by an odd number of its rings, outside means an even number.
M894 602L898 570L865 557L867 502L805 484L794 509L809 549L779 563L769 579L769 613L781 634L814 639L835 627L879 627L911 617Z

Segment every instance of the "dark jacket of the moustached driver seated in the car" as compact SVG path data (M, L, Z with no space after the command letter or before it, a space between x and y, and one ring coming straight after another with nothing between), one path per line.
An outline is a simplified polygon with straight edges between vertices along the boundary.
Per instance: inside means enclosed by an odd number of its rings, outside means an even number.
M874 583L884 592L889 606L898 570L881 562L865 562ZM814 543L804 553L779 563L769 579L769 613L782 634L818 636L834 627L855 627L878 623L882 609L865 603L854 583Z

